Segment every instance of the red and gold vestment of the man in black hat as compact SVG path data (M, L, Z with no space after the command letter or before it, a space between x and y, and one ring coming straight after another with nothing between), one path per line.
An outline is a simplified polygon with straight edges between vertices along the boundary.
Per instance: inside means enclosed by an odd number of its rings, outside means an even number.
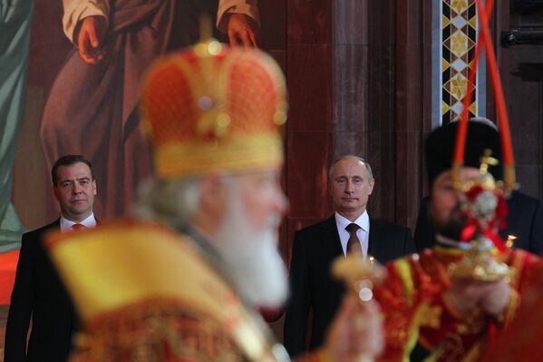
M447 269L463 256L460 249L436 247L386 266L388 278L374 289L385 316L386 347L380 360L409 360L415 347L424 350L431 361L477 360L481 348L491 343L514 315L518 293L525 288L530 273L541 265L537 256L519 249L499 255L499 261L515 268L510 280L515 292L508 309L499 320L485 316L480 309L461 318L443 296L451 287Z

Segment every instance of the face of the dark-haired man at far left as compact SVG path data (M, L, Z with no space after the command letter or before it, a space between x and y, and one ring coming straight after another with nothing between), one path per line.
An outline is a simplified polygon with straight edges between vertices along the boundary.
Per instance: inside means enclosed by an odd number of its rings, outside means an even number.
M76 162L60 166L56 176L53 192L63 217L76 222L85 220L92 213L96 195L96 181L92 180L91 169L83 162Z

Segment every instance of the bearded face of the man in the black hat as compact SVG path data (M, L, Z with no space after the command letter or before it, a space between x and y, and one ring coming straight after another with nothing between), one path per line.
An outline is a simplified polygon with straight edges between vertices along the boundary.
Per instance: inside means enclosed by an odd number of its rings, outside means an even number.
M461 181L475 180L480 172L473 167L461 170ZM454 189L452 172L443 171L433 181L431 187L430 218L434 229L441 235L460 240L466 217L461 211L459 191Z

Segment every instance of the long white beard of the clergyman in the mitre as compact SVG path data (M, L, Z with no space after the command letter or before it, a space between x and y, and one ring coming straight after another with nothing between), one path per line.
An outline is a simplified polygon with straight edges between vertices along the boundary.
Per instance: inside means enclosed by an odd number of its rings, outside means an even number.
M228 216L213 243L238 292L255 305L277 308L288 297L286 267L276 248L279 216L271 218L263 230L256 230L238 195L233 194L236 192L230 194Z

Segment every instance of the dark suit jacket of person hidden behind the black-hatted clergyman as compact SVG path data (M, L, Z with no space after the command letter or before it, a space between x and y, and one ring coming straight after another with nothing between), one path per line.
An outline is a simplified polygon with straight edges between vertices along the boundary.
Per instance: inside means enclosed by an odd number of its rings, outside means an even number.
M434 231L428 214L430 198L424 197L419 209L414 241L417 249L428 249L434 243ZM514 191L507 201L509 213L507 225L499 230L503 240L508 235L515 235L515 248L524 249L534 254L543 254L543 205L537 199L522 192Z

